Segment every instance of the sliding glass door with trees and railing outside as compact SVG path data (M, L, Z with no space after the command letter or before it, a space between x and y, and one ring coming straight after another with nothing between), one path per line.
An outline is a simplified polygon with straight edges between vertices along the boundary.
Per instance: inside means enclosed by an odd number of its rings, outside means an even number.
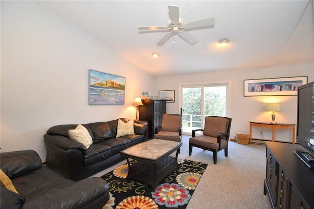
M183 134L203 129L206 116L228 115L228 83L182 85Z

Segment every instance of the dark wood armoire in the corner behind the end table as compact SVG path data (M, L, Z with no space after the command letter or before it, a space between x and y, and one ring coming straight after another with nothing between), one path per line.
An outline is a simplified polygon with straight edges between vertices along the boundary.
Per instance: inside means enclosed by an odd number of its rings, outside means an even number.
M165 100L142 100L144 105L139 105L139 120L147 120L148 137L153 138L155 128L161 126L162 114L166 113Z

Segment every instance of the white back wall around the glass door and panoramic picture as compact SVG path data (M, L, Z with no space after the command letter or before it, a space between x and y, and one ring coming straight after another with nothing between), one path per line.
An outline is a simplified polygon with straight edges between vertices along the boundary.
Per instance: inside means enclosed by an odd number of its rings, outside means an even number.
M210 83L219 81L230 82L230 106L229 112L232 118L231 138L234 138L235 132L249 133L248 121L270 122L271 113L264 111L265 103L279 102L281 103L281 112L276 112L277 123L296 123L297 117L297 96L262 96L262 97L244 97L244 80L259 78L282 78L308 76L308 82L314 81L314 62L299 63L291 65L274 66L266 69L252 70L233 70L222 72L210 72L204 74L183 75L176 77L160 77L156 79L156 92L158 90L175 90L175 103L167 103L167 113L179 113L179 91L180 85ZM155 93L156 93L155 92ZM236 110L233 111L232 108ZM260 135L260 130L263 135ZM270 129L253 128L253 138L271 139ZM276 140L292 141L292 131L276 130Z

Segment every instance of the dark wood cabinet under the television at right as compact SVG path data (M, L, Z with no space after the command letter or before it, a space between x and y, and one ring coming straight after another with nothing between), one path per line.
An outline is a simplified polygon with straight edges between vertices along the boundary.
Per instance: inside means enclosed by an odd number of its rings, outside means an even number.
M264 195L273 209L314 209L314 169L293 151L307 150L299 144L266 142Z

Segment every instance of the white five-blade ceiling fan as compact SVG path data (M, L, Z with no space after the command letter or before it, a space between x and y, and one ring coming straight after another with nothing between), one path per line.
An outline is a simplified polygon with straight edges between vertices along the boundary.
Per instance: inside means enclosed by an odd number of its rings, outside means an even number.
M204 28L212 28L215 25L215 19L205 19L199 20L190 23L183 23L183 20L179 17L179 6L169 5L169 21L167 26L143 26L138 27L139 30L165 30L170 31L157 43L157 47L163 46L171 36L179 34L179 36L185 40L190 45L193 45L197 42L197 39L194 38L191 34L189 34L188 30L195 29L204 29Z

